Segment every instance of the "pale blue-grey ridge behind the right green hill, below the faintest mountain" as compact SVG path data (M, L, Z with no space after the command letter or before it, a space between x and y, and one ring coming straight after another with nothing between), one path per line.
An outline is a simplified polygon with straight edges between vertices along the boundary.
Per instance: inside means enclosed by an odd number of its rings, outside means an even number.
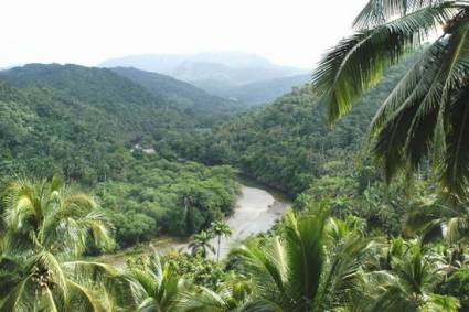
M292 87L301 87L310 79L310 74L274 78L237 86L220 94L247 105L260 105L274 101L276 98L290 93Z

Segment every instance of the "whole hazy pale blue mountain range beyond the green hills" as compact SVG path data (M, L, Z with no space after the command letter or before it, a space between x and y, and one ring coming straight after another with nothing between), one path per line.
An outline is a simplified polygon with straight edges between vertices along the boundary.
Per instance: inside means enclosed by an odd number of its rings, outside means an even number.
M169 75L211 94L251 105L270 101L309 79L306 69L276 65L263 56L238 52L130 55L107 60L99 66L134 67Z

